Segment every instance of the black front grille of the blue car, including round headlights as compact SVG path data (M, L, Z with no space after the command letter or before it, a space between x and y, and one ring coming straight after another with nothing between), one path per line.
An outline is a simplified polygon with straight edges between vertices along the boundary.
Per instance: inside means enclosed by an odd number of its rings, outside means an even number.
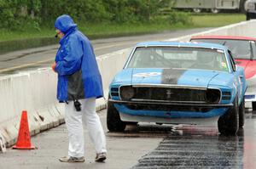
M131 88L133 88L131 90ZM129 89L129 90L128 90ZM127 92L132 92L128 94ZM185 103L218 104L218 89L184 88L184 87L120 87L120 95L133 101L169 101ZM125 98L127 100L127 97ZM129 98L130 97L130 98ZM124 99L121 97L121 99Z

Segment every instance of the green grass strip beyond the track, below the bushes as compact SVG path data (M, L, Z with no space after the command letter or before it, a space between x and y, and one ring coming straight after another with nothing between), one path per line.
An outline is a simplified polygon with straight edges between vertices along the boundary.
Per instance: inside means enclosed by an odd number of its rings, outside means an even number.
M129 36L134 34L143 34L160 31L173 31L180 29L189 29L196 27L218 27L230 25L246 20L245 14L192 14L192 23L190 25L170 25L167 23L156 24L98 24L84 25L78 24L79 30L83 31L90 38L99 37L118 37ZM38 37L54 37L54 28L41 28L41 31L25 29L26 31L7 31L0 30L0 42L38 38Z

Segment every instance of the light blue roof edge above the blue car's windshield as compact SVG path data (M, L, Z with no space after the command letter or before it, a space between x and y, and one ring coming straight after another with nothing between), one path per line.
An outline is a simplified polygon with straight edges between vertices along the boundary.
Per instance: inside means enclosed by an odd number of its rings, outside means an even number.
M218 43L207 42L139 42L136 47L148 46L177 46L177 47L192 47L192 48L218 48L227 50L228 48Z

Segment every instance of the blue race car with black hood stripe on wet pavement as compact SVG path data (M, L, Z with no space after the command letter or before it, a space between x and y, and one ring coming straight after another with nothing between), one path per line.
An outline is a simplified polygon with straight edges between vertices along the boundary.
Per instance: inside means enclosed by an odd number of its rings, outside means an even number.
M142 42L109 86L107 126L121 132L143 122L205 124L236 134L244 125L243 68L212 43Z

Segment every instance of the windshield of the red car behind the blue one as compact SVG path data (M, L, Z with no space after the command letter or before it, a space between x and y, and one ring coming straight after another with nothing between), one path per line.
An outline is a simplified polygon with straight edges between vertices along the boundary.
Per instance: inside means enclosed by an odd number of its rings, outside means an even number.
M253 51L255 51L255 44L252 45L250 41L245 40L231 40L231 39L194 39L193 42L211 42L218 43L230 49L235 59L253 59ZM253 49L253 51L252 51ZM255 58L254 58L255 59Z

